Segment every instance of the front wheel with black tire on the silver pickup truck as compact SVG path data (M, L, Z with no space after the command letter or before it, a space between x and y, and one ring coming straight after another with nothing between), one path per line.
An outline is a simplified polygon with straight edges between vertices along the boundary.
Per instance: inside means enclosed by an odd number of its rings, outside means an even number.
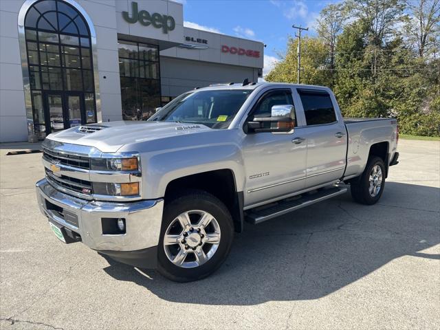
M203 190L180 192L164 207L157 270L171 281L198 281L221 266L233 238L232 217L222 201Z

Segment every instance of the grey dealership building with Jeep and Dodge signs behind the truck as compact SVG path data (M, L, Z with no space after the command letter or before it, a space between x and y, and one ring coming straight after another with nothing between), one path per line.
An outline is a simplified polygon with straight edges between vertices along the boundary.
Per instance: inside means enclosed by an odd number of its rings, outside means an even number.
M0 0L0 142L146 119L262 69L263 43L186 28L174 1Z

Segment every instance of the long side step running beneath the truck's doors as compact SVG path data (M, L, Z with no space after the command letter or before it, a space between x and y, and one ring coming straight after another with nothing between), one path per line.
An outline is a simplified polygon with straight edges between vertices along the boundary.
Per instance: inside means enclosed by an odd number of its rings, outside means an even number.
M272 203L267 207L260 206L258 208L252 208L246 214L246 221L256 225L257 223L261 223L275 217L280 217L281 215L294 210L305 208L306 206L318 203L319 201L324 201L325 199L342 195L347 192L347 190L347 188L334 187L320 190L314 194L304 195L303 197L294 200L292 200L292 198L283 199L278 201L276 204Z

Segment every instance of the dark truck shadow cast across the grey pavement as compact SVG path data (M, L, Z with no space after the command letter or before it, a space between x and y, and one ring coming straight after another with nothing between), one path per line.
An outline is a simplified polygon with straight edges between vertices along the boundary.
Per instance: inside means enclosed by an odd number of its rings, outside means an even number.
M212 276L173 283L157 272L107 259L105 272L159 298L206 305L256 305L331 294L401 256L440 243L440 189L387 182L380 203L362 206L349 194L284 217L247 225ZM387 281L394 281L389 278Z

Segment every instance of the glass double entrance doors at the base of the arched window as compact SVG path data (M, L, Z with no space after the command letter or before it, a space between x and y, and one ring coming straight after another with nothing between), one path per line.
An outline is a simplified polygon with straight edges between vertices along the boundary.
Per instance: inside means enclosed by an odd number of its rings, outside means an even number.
M83 93L46 92L44 105L48 134L86 122Z

